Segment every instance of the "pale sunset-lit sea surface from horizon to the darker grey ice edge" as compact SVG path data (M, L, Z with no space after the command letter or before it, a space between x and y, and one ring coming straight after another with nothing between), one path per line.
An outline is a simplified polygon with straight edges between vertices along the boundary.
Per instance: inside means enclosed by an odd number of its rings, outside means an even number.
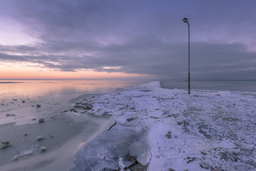
M145 82L149 81L2 80L0 81L0 124L28 123L27 117L39 116L42 110L44 115L56 113L82 98ZM38 104L41 108L35 107ZM15 117L6 117L6 114Z

